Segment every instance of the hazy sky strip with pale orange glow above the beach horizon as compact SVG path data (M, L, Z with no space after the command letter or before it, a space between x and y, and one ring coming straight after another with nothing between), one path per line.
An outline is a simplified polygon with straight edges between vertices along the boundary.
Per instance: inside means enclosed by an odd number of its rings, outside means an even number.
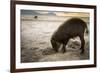
M21 15L55 15L55 16L81 16L89 17L89 13L80 12L55 12L55 11L36 11L36 10L21 10Z

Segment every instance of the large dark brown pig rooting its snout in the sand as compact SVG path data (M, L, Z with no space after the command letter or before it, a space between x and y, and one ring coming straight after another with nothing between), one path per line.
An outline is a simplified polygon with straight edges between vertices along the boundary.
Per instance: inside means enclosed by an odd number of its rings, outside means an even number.
M58 52L59 47L62 46L63 53L66 52L66 45L70 38L76 36L80 37L81 40L81 54L84 53L84 32L87 29L86 23L80 18L71 18L65 21L52 35L51 44L53 49Z

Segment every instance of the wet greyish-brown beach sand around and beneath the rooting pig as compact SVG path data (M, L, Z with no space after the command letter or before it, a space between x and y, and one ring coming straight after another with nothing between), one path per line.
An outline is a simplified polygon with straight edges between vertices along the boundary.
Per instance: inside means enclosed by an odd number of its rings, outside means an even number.
M81 42L78 37L70 39L66 52L56 53L50 43L54 31L64 21L22 20L21 21L21 62L71 61L89 59L89 34L85 34L85 52L80 54Z

